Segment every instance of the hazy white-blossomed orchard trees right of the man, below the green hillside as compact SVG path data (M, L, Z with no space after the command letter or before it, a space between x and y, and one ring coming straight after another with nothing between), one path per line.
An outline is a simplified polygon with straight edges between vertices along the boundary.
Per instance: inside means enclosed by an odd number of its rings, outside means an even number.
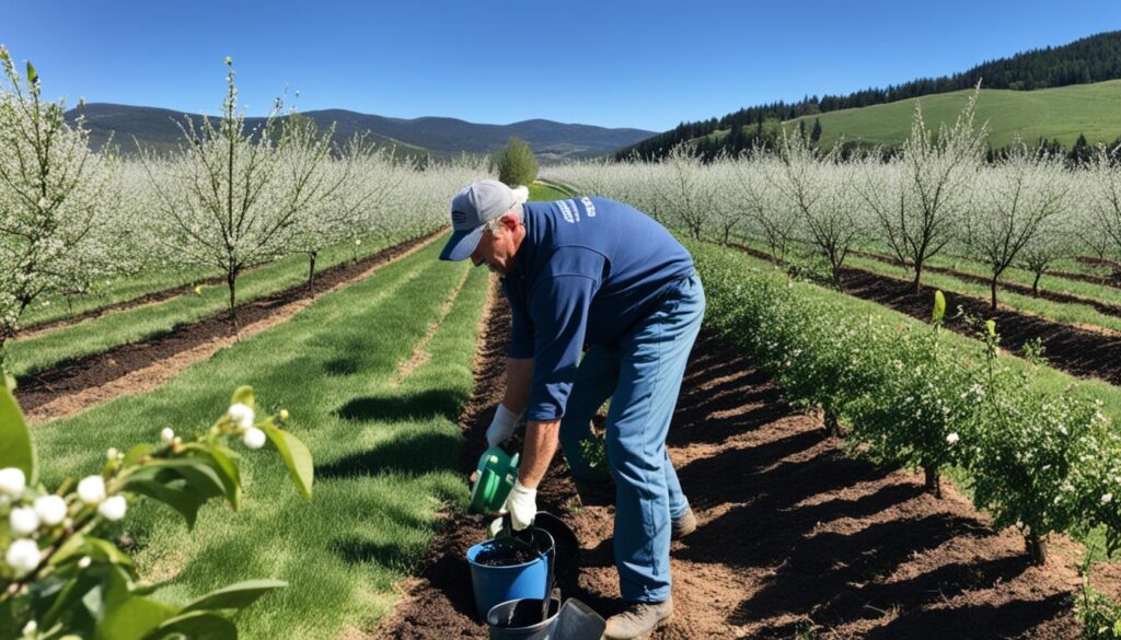
M754 149L704 161L679 147L658 163L584 163L549 179L615 197L686 230L730 242L747 235L776 262L807 250L841 286L854 249L890 251L914 273L938 254L989 267L991 304L1012 266L1039 277L1063 257L1121 256L1121 167L1108 147L1071 168L1046 149L1012 146L984 158L986 128L974 124L976 94L955 123L935 132L915 111L910 137L888 157L825 151L800 131L781 131L778 154Z

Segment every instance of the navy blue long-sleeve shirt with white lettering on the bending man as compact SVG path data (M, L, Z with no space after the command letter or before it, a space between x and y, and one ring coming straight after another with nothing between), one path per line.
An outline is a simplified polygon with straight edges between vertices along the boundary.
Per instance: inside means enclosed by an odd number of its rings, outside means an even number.
M526 238L503 278L510 358L534 359L526 418L564 416L584 344L614 346L693 257L660 224L600 197L525 205Z

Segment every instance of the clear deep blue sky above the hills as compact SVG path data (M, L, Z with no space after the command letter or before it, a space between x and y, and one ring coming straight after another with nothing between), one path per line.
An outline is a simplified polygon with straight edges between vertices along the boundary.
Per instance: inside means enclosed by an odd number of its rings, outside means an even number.
M77 2L0 0L45 93L214 113L242 104L665 130L805 94L942 75L1121 29L1117 0Z

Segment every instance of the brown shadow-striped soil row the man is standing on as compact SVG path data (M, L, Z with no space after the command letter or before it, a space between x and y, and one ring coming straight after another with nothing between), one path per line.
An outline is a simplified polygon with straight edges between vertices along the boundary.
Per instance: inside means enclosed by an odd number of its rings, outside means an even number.
M461 421L464 482L501 399L503 305L487 324ZM694 347L668 446L700 526L673 544L676 612L651 638L1080 636L1075 545L1054 540L1049 563L1030 566L1021 537L993 531L953 489L935 499L916 474L846 457L817 418L790 409L767 375L708 332ZM620 604L613 508L580 508L560 457L538 498L581 540L582 566L560 587L608 616ZM487 637L464 559L485 522L448 516L376 638Z

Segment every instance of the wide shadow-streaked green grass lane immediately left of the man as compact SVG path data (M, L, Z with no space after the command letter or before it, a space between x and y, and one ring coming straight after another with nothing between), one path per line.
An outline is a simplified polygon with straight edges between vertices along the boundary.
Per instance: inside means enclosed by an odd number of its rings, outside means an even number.
M311 448L312 500L298 497L275 454L247 453L240 512L207 505L191 534L160 505L130 510L124 532L141 547L139 566L174 577L160 594L180 602L239 579L287 581L240 616L244 638L369 630L423 559L436 512L466 500L456 418L471 393L488 275L438 262L438 251L437 243L328 294L154 392L35 427L45 480L92 473L108 447L151 442L164 426L203 429L234 387L252 384L259 406L291 411L290 429ZM464 276L426 347L430 359L398 380L399 363Z

